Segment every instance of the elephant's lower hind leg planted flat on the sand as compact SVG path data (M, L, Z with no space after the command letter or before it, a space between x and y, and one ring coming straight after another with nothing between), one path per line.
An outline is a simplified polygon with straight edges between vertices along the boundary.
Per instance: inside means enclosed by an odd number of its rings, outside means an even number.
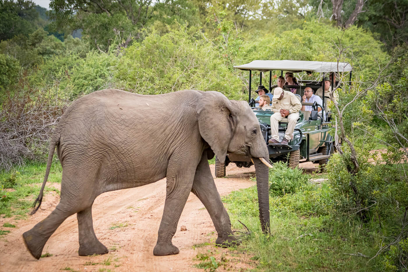
M77 213L80 256L106 254L109 250L96 238L92 223L92 206Z

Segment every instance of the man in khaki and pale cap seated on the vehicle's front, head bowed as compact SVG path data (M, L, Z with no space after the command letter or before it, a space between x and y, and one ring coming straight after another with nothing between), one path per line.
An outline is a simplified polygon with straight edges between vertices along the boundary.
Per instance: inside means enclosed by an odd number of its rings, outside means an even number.
M272 111L275 113L271 116L271 140L268 143L279 143L279 121L288 118L288 127L286 127L285 137L282 140L282 144L287 145L295 130L302 104L292 92L284 91L279 87L273 90L273 97Z

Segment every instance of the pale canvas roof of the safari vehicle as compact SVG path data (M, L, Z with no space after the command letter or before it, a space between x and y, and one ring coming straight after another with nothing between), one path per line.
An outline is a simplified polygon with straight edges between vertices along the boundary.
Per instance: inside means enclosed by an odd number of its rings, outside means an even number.
M291 72L310 71L317 73L349 72L353 69L348 62L326 62L306 60L253 60L234 68L251 71L284 70Z

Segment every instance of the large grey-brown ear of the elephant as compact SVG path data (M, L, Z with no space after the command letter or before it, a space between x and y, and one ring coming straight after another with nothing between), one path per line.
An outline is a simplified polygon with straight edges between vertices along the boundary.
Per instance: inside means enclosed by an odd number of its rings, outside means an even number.
M197 105L198 127L202 138L221 163L234 132L233 104L216 91L203 92Z

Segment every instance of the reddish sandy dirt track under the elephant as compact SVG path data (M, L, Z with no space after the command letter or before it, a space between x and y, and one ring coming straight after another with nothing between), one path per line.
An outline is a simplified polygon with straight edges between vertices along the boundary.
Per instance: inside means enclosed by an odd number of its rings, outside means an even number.
M317 170L317 164L312 163L302 163L300 167L308 173ZM211 165L211 172L214 173L214 165ZM238 168L231 164L226 173L226 178L215 178L221 195L255 185L249 180L255 175L253 166ZM58 183L47 185L60 187ZM108 254L78 256L78 225L76 215L73 215L58 227L45 245L42 253L48 252L52 256L36 260L24 246L22 233L44 219L58 204L59 195L48 193L40 210L26 220L0 218L1 226L4 223L16 225L16 228L2 227L11 232L0 236L0 271L203 271L193 265L199 263L195 256L207 253L207 250L223 254L228 259L225 267L217 271L256 267L257 261L251 260L248 254L214 247L215 227L204 205L193 194L188 198L173 237L173 244L180 249L180 254L153 256L165 189L166 180L163 179L98 196L93 205L93 227L98 239L110 250ZM181 226L187 230L181 231ZM210 245L195 246L202 243Z

